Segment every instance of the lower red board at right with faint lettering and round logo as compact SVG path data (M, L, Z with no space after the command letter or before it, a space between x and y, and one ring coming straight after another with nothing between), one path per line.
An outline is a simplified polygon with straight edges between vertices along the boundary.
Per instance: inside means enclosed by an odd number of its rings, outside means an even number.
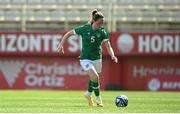
M178 57L129 57L124 61L123 86L130 90L180 90Z

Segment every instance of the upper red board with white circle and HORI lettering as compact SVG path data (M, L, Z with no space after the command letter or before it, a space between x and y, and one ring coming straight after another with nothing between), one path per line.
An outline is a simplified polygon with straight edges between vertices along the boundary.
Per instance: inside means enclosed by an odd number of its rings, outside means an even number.
M180 55L180 33L111 33L117 55Z

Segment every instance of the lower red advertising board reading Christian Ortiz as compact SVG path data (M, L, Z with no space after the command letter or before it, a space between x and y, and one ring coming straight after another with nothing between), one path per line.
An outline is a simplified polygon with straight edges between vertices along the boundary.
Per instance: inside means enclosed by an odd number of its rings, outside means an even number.
M103 62L103 64L106 64ZM107 67L104 67L101 88L105 88ZM87 88L88 76L78 59L58 57L0 58L0 89Z

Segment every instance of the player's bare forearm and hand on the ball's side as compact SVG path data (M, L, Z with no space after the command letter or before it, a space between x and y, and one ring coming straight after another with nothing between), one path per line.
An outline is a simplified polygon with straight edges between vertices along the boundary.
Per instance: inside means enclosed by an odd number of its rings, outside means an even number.
M111 59L112 59L115 63L117 63L117 62L118 62L118 59L117 59L117 57L114 55L114 51L113 51L113 49L112 49L112 47L111 47L111 44L110 44L109 40L104 41L104 43L105 43L105 46L106 46L106 49L107 49L109 55L111 56Z

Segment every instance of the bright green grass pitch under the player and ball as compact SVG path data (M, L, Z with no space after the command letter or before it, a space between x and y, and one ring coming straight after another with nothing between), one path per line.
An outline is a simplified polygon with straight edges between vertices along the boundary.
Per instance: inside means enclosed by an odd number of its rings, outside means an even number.
M117 108L115 97L125 94L129 104ZM0 112L163 112L180 113L180 92L101 92L104 107L88 107L84 91L0 91Z

